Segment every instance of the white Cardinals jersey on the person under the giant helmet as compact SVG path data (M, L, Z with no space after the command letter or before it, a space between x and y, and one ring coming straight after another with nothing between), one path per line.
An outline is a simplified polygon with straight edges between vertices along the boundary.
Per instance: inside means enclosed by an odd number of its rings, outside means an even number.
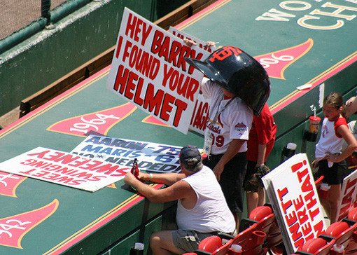
M232 139L248 140L253 121L252 109L239 97L235 97L232 102L230 99L223 99L222 89L208 78L203 78L201 86L202 95L211 99L209 118L207 118L206 130L204 130L205 137L208 137L210 132L214 135L211 154L225 153ZM246 149L245 142L238 152L244 152Z

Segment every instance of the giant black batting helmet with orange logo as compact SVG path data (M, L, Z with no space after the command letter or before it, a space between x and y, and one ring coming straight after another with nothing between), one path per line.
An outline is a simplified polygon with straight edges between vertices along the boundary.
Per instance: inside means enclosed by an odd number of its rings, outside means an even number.
M188 64L243 99L259 115L270 95L270 82L262 65L243 50L224 46L203 62L186 57Z

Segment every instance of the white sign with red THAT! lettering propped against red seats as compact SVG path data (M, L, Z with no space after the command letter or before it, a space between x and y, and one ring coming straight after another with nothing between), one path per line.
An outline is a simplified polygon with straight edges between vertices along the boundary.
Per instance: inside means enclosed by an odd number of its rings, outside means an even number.
M297 154L262 178L288 254L325 230L323 211L306 154Z

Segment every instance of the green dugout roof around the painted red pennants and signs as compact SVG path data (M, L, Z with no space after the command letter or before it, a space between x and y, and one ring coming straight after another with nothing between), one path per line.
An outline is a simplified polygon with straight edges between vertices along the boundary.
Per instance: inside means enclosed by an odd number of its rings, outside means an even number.
M304 143L302 140L304 130L307 128L307 117L312 113L309 106L311 104L318 106L322 88L325 88L325 95L333 90L342 92L345 99L355 95L354 90L356 90L357 81L356 48L353 44L355 43L352 40L353 36L348 33L346 36L342 36L342 32L346 32L346 29L349 32L353 31L351 27L356 26L356 20L346 22L341 30L336 30L333 33L302 29L296 25L296 20L293 22L277 22L276 24L269 22L269 25L255 21L255 18L270 8L278 8L278 4L279 1L259 1L259 4L258 1L226 1L221 8L185 28L185 31L189 34L204 40L221 41L221 45L234 44L240 46L253 56L296 46L309 38L314 40L314 45L309 52L286 68L284 71L285 80L271 78L272 95L269 98L269 104L274 106L273 110L281 104L283 106L279 111L274 111L279 135L272 155L269 157L268 165L270 167L279 164L281 150L288 142L295 142L297 152L306 151L309 158L312 158L314 142ZM321 2L320 4L314 2L311 5L316 8L316 5L321 4ZM252 8L252 6L259 6L259 8ZM300 13L300 16L302 14ZM275 27L278 24L281 26L280 28ZM222 27L227 29L222 30ZM339 38L339 44L337 45L328 38ZM239 41L239 44L234 43L235 41ZM328 46L323 45L323 41ZM346 56L352 56L350 57L352 62L342 66L341 70L335 69L336 65L344 63ZM326 74L331 74L331 76ZM278 103L279 100L290 93L296 92L295 87L297 85L302 85L308 81L316 81L311 90L297 92L297 97L294 97L291 102ZM0 134L0 161L17 156L37 146L71 151L83 140L83 137L49 132L46 129L53 123L66 118L124 104L123 100L118 99L116 95L106 90L105 83L106 75L103 75L85 89L72 93L70 97L66 97L63 101L58 101L46 109L36 111L38 113L36 116L28 116L27 119L21 120L18 125L10 130L5 130L5 133L3 133L5 135ZM324 83L324 85L321 85L321 83ZM318 108L317 113L321 114L321 109ZM141 120L145 117L146 113L136 110L125 120L114 125L108 135L177 146L195 144L202 147L203 139L200 135L193 133L183 135L169 127L142 123ZM1 246L0 254L38 254L48 251L76 231L87 226L88 223L109 212L123 200L130 198L132 193L121 189L122 185L123 181L118 181L117 188L106 187L95 193L87 193L35 179L26 179L16 190L17 198L0 196L0 202L3 205L0 218L42 207L55 198L59 200L59 207L55 214L52 214L50 218L25 235L22 240L23 249ZM148 221L145 224L150 225L150 222L160 216L167 207L169 205L150 204ZM113 251L118 251L122 247L121 245L128 247L130 244L129 241L125 241L125 238L131 238L129 236L132 234L137 236L135 231L141 226L138 219L142 219L143 213L144 201L141 201L103 228L94 231L92 235L73 246L68 253L76 254L81 248L88 252L92 249L98 249L95 252L106 251L105 247L110 245L115 247L118 245L116 249L113 248ZM160 222L160 218L158 218L158 222ZM124 225L125 223L127 225ZM160 224L164 223L162 221L162 223L153 223L150 227L148 225L148 232L144 233L144 237L148 238L151 230L157 230ZM43 243L40 247L38 240ZM128 240L137 240L137 237ZM94 242L96 242L98 248L94 247Z

